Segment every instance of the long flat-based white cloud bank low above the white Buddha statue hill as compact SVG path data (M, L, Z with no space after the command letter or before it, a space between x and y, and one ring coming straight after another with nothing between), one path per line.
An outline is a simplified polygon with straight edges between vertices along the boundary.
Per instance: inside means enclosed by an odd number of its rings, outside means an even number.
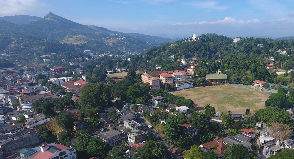
M217 21L199 21L199 22L190 22L190 23L175 23L173 25L191 25L191 24L249 24L249 23L259 23L259 19L252 19L252 20L237 20L231 17L225 17L224 19L217 20Z

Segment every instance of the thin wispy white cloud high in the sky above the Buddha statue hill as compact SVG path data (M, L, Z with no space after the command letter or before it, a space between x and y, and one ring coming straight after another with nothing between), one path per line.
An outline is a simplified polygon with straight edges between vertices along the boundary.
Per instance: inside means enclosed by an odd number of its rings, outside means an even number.
M189 3L184 3L185 5L193 6L198 9L208 9L208 10L218 10L218 11L225 11L229 7L228 6L220 6L215 1L193 1Z

